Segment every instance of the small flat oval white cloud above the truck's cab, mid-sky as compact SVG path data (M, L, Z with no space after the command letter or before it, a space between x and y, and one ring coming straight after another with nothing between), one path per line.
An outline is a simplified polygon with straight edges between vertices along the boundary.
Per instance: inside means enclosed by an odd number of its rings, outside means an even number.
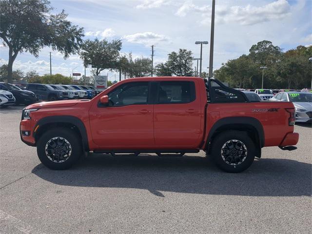
M132 35L126 35L123 37L129 42L139 43L144 45L157 44L159 42L169 42L169 38L164 35L159 35L152 32L136 33Z

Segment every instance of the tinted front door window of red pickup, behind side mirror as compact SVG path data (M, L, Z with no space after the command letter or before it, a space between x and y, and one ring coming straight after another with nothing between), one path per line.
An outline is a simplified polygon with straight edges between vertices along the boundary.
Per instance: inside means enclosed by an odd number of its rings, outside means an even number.
M110 106L148 104L148 82L130 82L108 94Z

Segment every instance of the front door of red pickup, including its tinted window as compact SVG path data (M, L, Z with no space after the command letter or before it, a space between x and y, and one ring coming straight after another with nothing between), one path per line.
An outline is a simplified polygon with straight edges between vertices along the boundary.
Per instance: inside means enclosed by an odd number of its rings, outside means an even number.
M89 111L94 142L106 149L154 146L154 105L148 96L148 82L128 82L108 94L108 106L95 103Z

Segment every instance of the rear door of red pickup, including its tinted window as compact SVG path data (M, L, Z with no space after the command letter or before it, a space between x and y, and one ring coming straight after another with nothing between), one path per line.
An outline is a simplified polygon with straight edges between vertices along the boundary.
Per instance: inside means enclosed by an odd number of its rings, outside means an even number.
M191 87L185 82L192 83ZM195 94L195 83L160 82L159 102L163 104L154 105L155 144L181 149L198 145L202 134L201 108L199 94Z

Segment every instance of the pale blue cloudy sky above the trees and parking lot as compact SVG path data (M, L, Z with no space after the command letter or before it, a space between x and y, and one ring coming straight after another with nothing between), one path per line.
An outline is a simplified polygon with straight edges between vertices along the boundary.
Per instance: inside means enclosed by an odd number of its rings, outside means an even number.
M84 28L84 39L121 39L121 54L132 52L133 58L151 57L154 45L154 66L179 48L191 50L199 58L200 45L195 41L207 40L209 44L203 45L203 71L208 71L209 64L211 4L212 0L51 0L54 13L64 9L73 24ZM216 0L214 69L248 54L253 44L264 39L284 51L311 45L312 0ZM0 44L2 65L7 63L8 49ZM39 58L19 54L13 70L48 74L49 52L53 74L70 76L73 69L84 74L78 55L63 59L49 47L42 48ZM87 76L90 69L86 69ZM118 73L101 73L107 74L111 81L119 78Z

